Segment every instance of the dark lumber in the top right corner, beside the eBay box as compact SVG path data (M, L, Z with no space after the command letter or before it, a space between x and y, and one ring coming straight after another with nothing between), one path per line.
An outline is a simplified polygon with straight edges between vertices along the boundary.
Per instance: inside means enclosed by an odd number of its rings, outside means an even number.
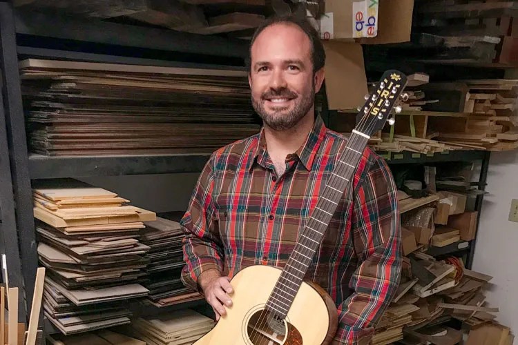
M417 0L411 41L390 53L407 61L514 66L516 17L516 1Z

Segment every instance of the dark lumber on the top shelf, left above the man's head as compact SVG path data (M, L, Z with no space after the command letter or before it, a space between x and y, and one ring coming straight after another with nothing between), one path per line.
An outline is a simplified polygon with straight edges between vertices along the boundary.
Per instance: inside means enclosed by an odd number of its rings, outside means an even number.
M306 1L300 2L306 5ZM321 10L323 2L310 1L311 6L304 6L300 10ZM231 33L234 37L249 37L250 30L259 26L265 16L271 13L271 6L267 6L269 1L266 0L106 0L85 3L15 0L13 3L19 10L111 19L126 25L152 26L196 34ZM289 10L287 4L284 6ZM317 17L316 14L314 17Z

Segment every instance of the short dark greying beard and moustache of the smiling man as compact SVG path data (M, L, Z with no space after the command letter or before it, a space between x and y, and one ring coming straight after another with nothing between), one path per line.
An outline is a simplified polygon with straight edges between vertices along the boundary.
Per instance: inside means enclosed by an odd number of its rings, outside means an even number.
M287 106L276 106L273 110L267 110L265 103L271 97L282 97L294 100L294 106L290 110ZM311 82L311 89L303 95L288 88L269 89L262 93L260 99L252 97L252 106L262 121L271 129L284 131L294 128L298 122L307 115L307 112L315 103L315 83Z

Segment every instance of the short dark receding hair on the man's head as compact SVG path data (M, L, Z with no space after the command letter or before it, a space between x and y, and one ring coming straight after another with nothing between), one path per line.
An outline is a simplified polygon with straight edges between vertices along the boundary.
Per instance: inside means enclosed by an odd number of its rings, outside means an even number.
M269 26L280 23L291 23L298 26L300 30L303 30L311 42L311 63L313 63L313 72L323 68L325 65L325 50L322 41L320 41L320 34L318 34L317 30L315 30L315 28L311 25L311 23L309 23L307 19L294 15L288 15L270 17L260 26L258 26L258 28L256 28L256 31L253 33L253 37L250 41L248 57L246 59L248 70L250 71L251 69L252 46L259 34Z

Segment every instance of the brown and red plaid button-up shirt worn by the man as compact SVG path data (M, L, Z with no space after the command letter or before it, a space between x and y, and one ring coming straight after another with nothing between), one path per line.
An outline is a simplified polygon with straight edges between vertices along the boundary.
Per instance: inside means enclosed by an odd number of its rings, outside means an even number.
M233 277L251 265L283 267L298 231L316 206L347 140L316 117L305 144L277 176L263 130L211 155L181 225L186 234L184 285L217 268ZM396 187L386 162L365 148L306 279L338 308L334 344L368 344L399 285L401 226Z

